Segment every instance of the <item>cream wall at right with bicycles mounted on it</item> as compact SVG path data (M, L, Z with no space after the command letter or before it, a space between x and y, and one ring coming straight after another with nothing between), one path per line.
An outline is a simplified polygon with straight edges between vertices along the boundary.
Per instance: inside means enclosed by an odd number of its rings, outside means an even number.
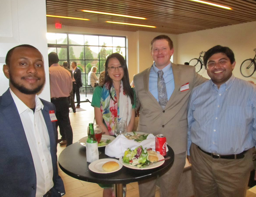
M245 78L240 73L240 65L243 60L253 58L256 48L256 21L243 24L219 27L198 32L178 35L177 62L183 64L192 58L198 58L201 51L207 51L215 45L228 46L235 54L236 66L233 74L235 77L252 80L256 83L256 73L252 77ZM209 78L203 68L199 74Z

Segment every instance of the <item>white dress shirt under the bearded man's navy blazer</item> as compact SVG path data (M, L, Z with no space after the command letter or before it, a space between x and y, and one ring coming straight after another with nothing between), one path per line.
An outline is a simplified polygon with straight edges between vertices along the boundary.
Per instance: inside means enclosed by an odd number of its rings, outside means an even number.
M18 109L36 171L36 197L42 197L53 186L53 164L50 138L41 109L43 103L36 95L35 113L9 89Z

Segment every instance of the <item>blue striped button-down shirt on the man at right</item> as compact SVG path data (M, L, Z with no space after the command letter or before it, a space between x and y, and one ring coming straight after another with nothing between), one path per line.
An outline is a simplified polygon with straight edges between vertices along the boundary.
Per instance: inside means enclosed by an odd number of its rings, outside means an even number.
M195 87L188 105L188 155L191 142L221 155L239 154L255 145L256 86L234 77Z

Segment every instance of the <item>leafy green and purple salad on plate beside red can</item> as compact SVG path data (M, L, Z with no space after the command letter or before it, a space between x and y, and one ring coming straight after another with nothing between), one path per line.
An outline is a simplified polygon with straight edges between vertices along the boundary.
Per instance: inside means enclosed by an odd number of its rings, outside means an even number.
M127 149L124 152L123 162L131 165L137 165L139 168L143 168L144 165L150 163L150 161L147 160L147 151L146 149L143 149L142 146L138 146L133 151L131 149Z

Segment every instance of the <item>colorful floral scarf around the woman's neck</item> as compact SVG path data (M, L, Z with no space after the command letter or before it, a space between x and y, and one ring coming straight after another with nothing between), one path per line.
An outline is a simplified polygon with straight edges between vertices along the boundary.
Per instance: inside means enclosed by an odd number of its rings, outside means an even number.
M110 97L110 94L112 98ZM109 92L109 82L105 83L102 88L100 98L100 110L103 120L107 125L110 135L114 135L114 122L115 120L126 120L129 124L132 116L132 103L131 98L125 95L123 91L123 82L119 88L119 102L117 103L116 91L112 85Z

